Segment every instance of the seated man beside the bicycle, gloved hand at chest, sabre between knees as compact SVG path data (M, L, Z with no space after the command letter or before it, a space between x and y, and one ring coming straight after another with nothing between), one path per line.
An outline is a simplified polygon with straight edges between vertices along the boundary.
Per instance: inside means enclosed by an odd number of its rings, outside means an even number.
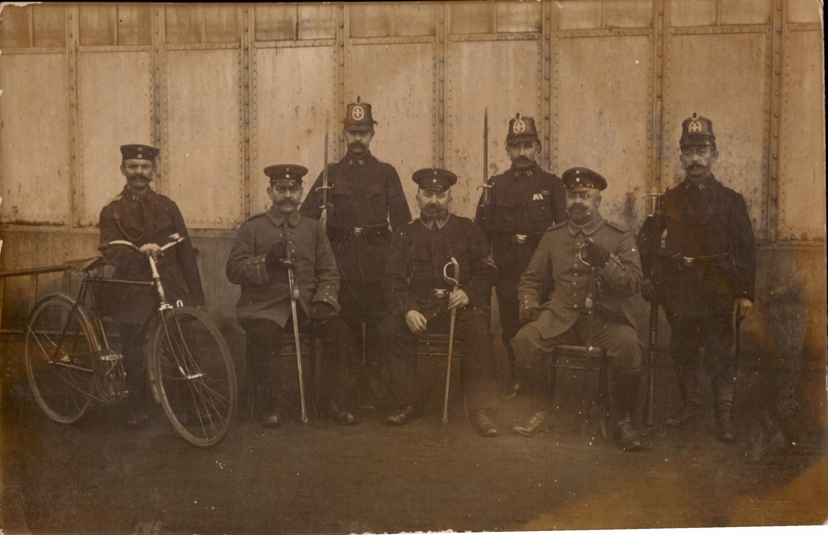
M339 272L325 228L317 219L297 210L302 197L302 166L269 166L267 195L270 210L254 215L238 229L227 258L227 278L242 285L236 306L238 323L248 337L248 374L261 393L265 427L282 423L282 378L278 356L289 321L307 324L330 345L325 371L333 380L330 416L343 425L355 424L350 410L358 364L348 325L336 316ZM288 266L295 270L299 290L297 318L291 318ZM310 320L310 321L309 321Z

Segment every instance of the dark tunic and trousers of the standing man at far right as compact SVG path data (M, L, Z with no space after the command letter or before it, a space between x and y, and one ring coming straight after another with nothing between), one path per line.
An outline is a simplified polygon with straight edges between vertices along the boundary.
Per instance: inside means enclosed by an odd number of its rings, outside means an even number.
M742 195L712 175L685 179L664 193L663 214L644 221L638 247L645 277L652 277L672 327L676 365L693 367L704 347L710 378L732 383L733 301L753 301L756 277L753 228Z

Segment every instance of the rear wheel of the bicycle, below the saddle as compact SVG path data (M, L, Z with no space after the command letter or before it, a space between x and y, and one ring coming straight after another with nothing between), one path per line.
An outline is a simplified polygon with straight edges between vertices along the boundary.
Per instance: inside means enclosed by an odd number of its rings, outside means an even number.
M92 398L98 354L89 312L82 305L75 307L75 299L55 294L35 306L26 329L26 373L46 416L72 423L84 415Z

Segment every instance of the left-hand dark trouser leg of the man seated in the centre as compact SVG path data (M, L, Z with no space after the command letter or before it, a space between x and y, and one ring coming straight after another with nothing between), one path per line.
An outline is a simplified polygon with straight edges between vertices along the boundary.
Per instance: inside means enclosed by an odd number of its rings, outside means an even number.
M397 406L422 402L422 387L416 364L416 335L402 315L391 314L379 324L377 338L384 349L384 363L391 382L392 401Z

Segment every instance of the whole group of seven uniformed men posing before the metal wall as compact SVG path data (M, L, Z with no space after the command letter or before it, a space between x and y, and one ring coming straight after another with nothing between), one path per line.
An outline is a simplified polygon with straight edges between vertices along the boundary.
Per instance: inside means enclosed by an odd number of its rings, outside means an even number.
M229 253L226 274L241 286L236 312L264 426L283 421L277 357L282 334L294 322L324 340L329 413L343 425L358 422L360 383L374 397L389 399L388 423L422 417L418 340L451 328L463 347L469 420L481 436L498 435L493 415L499 403L522 392L531 410L513 431L549 431L548 355L556 345L589 344L603 348L611 362L619 446L638 450L631 417L643 378L642 350L632 298L641 292L664 308L672 327L670 353L684 404L668 422L698 417L703 361L718 436L734 440L733 319L752 305L756 260L744 199L713 176L718 152L710 119L694 113L682 124L686 178L661 196L661 209L637 237L600 214L608 184L599 173L574 167L558 178L538 165L535 122L519 113L506 136L512 166L488 181L474 220L450 210L457 176L431 167L412 176L420 210L412 220L397 171L370 152L374 124L370 104L358 98L347 106L347 153L320 173L304 202L305 167L266 167L272 206L238 229ZM159 251L166 236L187 234L176 204L150 187L158 151L143 145L121 150L127 185L101 212L101 243L128 239L141 253L104 248L104 256L116 277L147 280L140 255L152 255L174 300L203 304L190 242L176 253ZM446 276L448 266L454 279ZM510 364L503 384L495 378L493 287ZM137 322L154 303L142 289L133 294L120 296L129 306L116 320L128 368L128 425L138 427L146 420L147 397L141 364L146 333Z

